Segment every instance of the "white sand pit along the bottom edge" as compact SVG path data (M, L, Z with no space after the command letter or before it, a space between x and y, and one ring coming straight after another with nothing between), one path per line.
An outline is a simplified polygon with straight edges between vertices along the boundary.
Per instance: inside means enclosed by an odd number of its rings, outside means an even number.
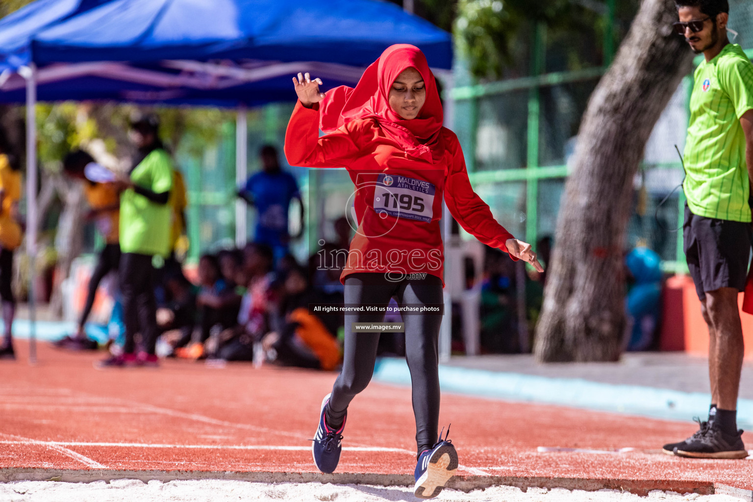
M238 502L239 500L285 500L286 502L377 502L419 500L407 487L371 485L331 485L321 483L261 483L201 479L189 481L150 481L119 479L69 483L17 481L0 483L2 502ZM464 493L444 490L434 500L447 502L740 502L729 495L678 494L652 491L647 497L616 490L569 491L564 488L495 486Z

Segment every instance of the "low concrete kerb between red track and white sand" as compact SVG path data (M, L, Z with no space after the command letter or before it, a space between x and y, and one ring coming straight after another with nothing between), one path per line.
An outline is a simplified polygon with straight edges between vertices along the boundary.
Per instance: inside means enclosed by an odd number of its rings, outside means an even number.
M223 479L247 482L320 482L337 485L412 486L410 474L376 473L274 473L203 470L117 470L117 469L47 469L36 467L9 467L0 469L0 482L59 481L59 482L110 482L114 479L139 479L143 482L158 480ZM602 489L629 491L645 496L653 490L675 491L680 494L701 495L724 493L753 502L753 491L721 485L714 482L668 479L587 479L544 476L455 476L447 488L465 492L492 486L528 488L566 488L568 490L597 491Z

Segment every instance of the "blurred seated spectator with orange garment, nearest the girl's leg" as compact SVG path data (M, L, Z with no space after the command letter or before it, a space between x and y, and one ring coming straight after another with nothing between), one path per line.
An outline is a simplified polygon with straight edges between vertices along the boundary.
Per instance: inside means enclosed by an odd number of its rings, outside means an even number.
M282 298L279 330L264 336L262 347L277 364L334 370L340 362L340 345L325 318L309 312L309 303L319 301L305 270L294 267L281 278Z

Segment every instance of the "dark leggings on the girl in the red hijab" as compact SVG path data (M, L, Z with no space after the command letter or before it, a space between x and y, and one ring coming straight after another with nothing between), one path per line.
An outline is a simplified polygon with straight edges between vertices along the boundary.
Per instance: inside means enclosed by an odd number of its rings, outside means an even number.
M427 274L425 278L388 281L383 273L356 273L345 279L346 305L387 304L395 297L398 305L441 304L442 281ZM327 422L342 424L346 409L355 394L363 391L373 375L380 333L355 333L354 322L382 322L384 314L345 315L343 370L332 388L327 406ZM416 415L418 452L437 441L439 424L439 373L437 343L441 314L404 315L405 358L413 388L413 414Z

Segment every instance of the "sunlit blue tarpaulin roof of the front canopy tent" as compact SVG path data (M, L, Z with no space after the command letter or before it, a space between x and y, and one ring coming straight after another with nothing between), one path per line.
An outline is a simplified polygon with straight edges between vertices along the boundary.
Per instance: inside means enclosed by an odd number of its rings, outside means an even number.
M364 66L389 45L450 68L450 34L377 0L114 0L46 29L35 62L160 59L323 61Z

